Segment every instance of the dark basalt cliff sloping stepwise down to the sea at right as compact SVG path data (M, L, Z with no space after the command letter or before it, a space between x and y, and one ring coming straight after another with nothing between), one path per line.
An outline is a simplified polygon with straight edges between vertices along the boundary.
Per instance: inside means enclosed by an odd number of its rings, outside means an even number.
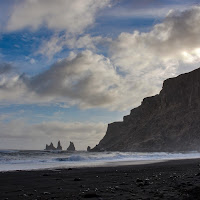
M200 68L164 81L123 122L108 125L92 151L200 150Z

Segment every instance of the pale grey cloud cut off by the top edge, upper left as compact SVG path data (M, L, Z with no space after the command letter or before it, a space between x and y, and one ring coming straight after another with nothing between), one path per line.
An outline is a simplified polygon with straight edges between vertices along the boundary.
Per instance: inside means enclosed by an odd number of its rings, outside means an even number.
M94 23L98 10L109 6L109 2L110 0L21 0L13 7L6 29L36 30L46 25L52 30L81 33Z

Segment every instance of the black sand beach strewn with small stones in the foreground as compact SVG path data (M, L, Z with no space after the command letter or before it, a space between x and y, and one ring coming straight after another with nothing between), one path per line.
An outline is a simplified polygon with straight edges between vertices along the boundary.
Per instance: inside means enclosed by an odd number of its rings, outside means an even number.
M0 199L200 199L200 159L0 173Z

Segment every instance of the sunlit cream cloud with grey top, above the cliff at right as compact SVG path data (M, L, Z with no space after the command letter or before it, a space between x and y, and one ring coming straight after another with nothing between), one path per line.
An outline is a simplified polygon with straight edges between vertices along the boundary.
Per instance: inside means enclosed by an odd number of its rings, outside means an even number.
M121 33L112 44L112 60L128 71L180 61L199 62L199 34L200 7L171 11L164 22L155 25L150 32Z

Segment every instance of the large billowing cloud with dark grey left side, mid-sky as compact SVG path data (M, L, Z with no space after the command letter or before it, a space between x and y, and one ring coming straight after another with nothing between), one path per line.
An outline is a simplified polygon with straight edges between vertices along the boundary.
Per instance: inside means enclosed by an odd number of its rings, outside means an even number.
M83 51L32 77L27 86L39 96L66 97L85 108L113 102L119 83L109 59Z

